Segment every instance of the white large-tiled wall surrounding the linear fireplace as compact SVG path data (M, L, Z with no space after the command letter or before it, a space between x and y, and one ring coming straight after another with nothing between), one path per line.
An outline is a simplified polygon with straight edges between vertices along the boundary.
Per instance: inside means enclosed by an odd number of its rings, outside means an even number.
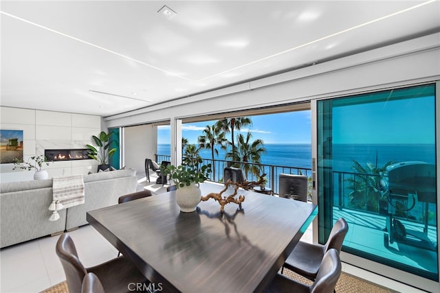
M101 131L101 117L74 113L0 107L0 128L23 130L23 159L44 155L45 149L85 148L91 136ZM45 167L50 177L96 172L94 160L54 162ZM34 171L12 170L0 165L1 182L32 180Z

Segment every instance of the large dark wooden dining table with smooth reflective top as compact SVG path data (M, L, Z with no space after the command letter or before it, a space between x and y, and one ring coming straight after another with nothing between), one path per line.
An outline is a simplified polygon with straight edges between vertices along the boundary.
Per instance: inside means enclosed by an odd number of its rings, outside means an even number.
M203 183L202 196L223 185ZM232 194L232 189L224 195ZM314 204L239 190L220 213L183 213L175 191L87 212L94 226L162 292L261 292L318 213Z

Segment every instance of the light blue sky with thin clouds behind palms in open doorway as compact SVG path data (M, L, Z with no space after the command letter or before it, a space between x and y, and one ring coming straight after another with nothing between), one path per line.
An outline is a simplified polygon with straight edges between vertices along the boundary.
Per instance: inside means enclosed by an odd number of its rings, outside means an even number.
M252 126L242 129L241 132L247 133L251 130L253 139L263 139L264 143L311 143L310 110L249 117L252 119ZM197 137L202 134L203 129L214 122L184 124L182 136L189 143L197 143ZM230 140L230 134L226 134L226 138ZM170 143L169 126L159 126L157 143Z

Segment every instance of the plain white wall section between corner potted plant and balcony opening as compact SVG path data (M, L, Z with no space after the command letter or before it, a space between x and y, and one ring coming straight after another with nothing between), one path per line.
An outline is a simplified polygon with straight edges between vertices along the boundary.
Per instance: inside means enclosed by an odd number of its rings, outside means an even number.
M123 165L144 173L145 159L155 161L157 126L151 124L124 128Z

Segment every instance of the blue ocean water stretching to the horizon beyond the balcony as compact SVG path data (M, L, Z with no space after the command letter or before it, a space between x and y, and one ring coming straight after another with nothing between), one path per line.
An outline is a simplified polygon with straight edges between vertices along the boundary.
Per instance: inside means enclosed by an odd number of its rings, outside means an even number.
M310 144L265 143L267 152L262 155L261 163L287 167L311 168ZM434 144L333 144L333 171L353 172L353 160L361 165L366 163L382 167L388 161L423 161L435 164ZM214 159L224 160L225 151L219 150ZM157 145L157 154L170 154L169 144ZM201 150L200 156L211 158L210 150Z

